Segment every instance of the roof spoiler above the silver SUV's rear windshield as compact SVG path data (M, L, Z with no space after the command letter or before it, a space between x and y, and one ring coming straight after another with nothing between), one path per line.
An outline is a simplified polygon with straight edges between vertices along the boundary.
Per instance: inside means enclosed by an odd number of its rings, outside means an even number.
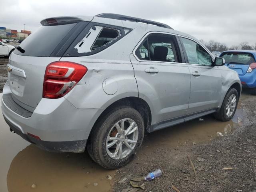
M53 26L53 25L65 25L72 24L82 21L81 18L78 17L52 17L42 20L40 23L43 26Z

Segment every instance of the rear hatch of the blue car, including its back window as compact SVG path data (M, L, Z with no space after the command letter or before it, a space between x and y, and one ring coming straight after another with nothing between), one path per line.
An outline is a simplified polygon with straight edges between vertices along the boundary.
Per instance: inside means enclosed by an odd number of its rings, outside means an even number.
M250 64L255 62L254 56L246 52L223 52L220 57L225 59L226 66L239 75L245 75Z

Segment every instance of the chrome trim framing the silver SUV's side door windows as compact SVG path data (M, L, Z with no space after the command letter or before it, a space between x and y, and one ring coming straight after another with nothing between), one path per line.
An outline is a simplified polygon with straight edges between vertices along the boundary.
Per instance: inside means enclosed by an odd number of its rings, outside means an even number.
M150 31L150 32L146 33L146 34L142 37L142 39L138 42L138 44L135 46L134 50L132 51L133 56L134 56L134 57L136 58L136 60L138 60L139 62L157 62L157 63L189 64L189 65L196 65L196 66L214 67L214 66L209 66L209 65L198 65L198 64L190 64L190 63L178 63L178 62L164 62L164 61L140 60L140 59L136 56L135 52L136 52L136 50L138 49L138 47L140 46L140 44L142 43L142 41L144 41L144 39L145 39L148 35L150 35L150 34L152 34L152 33L160 33L160 34L167 34L167 35L173 35L173 36L179 36L179 37L187 38L187 39L189 39L189 40L192 40L192 41L198 43L200 46L202 46L202 48L204 48L204 46L203 46L200 42L198 42L198 41L196 41L196 40L194 40L194 39L192 39L192 38L190 38L190 37L186 37L186 36L183 36L183 35L178 35L178 34L175 34L175 33L161 32L161 31ZM214 61L213 55L212 55L208 50L206 50L205 48L204 48L204 50L205 50L206 52L208 52L208 54L210 54L210 56L211 56L211 58L212 58L212 61Z

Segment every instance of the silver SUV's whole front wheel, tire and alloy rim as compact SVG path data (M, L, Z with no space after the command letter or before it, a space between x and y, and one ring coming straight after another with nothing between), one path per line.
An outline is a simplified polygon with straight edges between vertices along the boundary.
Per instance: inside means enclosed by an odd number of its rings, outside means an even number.
M238 92L236 89L230 88L223 100L221 108L217 112L215 112L215 118L220 121L231 120L236 112L237 104Z

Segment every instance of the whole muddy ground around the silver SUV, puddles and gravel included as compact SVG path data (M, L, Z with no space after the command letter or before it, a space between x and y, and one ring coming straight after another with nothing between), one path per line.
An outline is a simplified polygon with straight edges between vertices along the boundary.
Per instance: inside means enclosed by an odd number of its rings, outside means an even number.
M7 80L7 61L0 58L0 92ZM139 182L145 187L140 191L175 192L173 185L180 192L256 192L255 101L256 96L243 90L232 121L219 122L208 115L203 121L195 119L147 134L136 158L118 170L101 168L86 152L40 150L11 133L0 115L0 192L122 192L131 187L131 178L158 168L162 176ZM223 136L217 137L217 132ZM120 182L127 176L130 179Z

